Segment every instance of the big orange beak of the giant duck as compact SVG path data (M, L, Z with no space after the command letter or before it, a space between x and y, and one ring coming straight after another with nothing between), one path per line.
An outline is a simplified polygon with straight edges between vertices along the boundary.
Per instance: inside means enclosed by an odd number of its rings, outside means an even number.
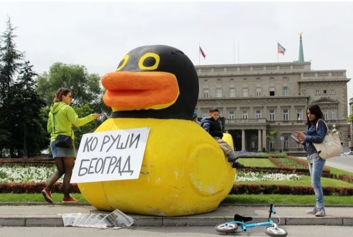
M105 105L113 111L161 109L173 105L179 96L174 74L165 72L113 72L105 74Z

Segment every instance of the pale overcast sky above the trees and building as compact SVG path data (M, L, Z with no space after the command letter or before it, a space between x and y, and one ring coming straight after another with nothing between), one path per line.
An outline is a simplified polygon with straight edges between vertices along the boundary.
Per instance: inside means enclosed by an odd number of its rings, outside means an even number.
M292 62L303 32L313 70L353 76L353 2L0 1L1 33L7 16L17 27L17 49L39 74L63 62L102 76L130 50L155 44L180 49L195 65ZM277 41L285 55L277 54Z

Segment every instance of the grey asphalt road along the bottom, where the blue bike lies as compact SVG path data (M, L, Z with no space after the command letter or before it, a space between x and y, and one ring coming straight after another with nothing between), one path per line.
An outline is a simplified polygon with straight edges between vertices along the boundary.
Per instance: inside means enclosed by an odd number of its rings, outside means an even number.
M280 226L288 237L347 237L353 233L353 226ZM264 227L255 227L238 234L219 234L212 226L183 227L140 227L131 226L119 230L102 230L81 227L2 227L1 237L269 237Z

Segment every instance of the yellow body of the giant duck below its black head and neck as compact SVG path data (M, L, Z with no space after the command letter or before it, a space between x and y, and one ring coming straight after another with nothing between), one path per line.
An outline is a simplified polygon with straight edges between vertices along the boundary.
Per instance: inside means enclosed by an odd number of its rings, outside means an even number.
M150 132L139 178L79 183L86 200L100 210L157 216L215 210L232 188L236 170L218 143L195 122L109 118L95 132L145 127ZM225 133L224 137L233 146L231 136Z

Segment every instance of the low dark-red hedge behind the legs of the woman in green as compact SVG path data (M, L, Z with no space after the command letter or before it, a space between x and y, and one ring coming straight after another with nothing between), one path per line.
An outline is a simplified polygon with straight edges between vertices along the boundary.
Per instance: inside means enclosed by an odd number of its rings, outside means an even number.
M0 183L0 193L40 193L46 183L27 183L27 184L1 184ZM55 183L50 190L51 192L62 193L62 183ZM72 184L71 192L80 193L77 184Z

